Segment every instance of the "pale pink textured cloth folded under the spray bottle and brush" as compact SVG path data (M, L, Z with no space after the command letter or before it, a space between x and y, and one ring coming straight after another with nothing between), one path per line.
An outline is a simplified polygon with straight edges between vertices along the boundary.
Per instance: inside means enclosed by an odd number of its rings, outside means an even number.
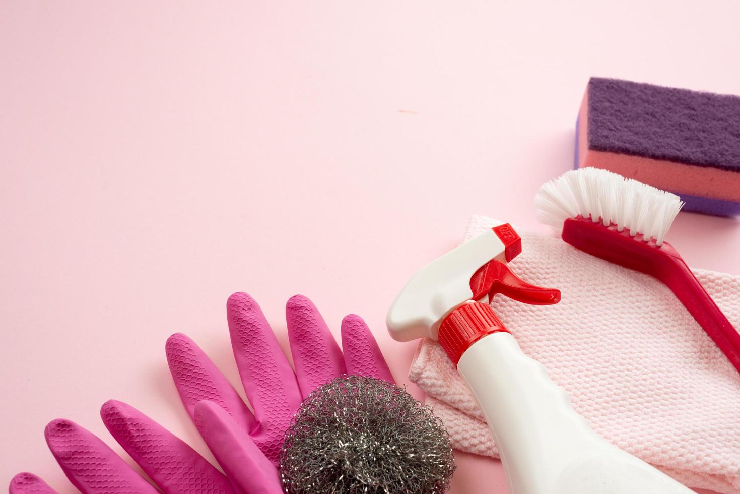
M499 224L474 216L465 240ZM512 261L527 281L562 291L552 306L492 304L525 353L613 444L689 487L740 493L740 374L655 278L553 236L521 233ZM740 327L740 277L694 270ZM440 345L424 340L409 371L453 446L497 456L482 412Z

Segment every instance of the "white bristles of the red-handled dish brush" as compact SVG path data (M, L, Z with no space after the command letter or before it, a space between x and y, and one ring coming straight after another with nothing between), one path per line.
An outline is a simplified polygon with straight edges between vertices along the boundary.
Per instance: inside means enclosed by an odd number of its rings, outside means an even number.
M583 216L594 223L615 224L644 241L661 246L684 203L650 185L599 168L580 168L542 185L534 198L542 223L562 230L567 218Z

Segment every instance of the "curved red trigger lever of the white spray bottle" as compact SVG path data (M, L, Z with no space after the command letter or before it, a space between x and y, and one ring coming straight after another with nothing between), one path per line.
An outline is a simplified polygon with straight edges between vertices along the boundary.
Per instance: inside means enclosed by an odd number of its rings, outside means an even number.
M491 301L497 293L519 302L532 305L557 304L560 301L560 290L537 287L527 283L502 261L489 261L483 264L470 278L472 300L480 300L488 295Z

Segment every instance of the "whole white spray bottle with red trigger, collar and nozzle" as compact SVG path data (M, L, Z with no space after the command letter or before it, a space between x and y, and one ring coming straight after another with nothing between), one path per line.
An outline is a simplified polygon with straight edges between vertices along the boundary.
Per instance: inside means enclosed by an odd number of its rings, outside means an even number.
M494 434L511 494L692 493L591 430L545 367L522 353L491 307L497 293L556 304L506 264L521 239L502 224L427 264L388 310L397 341L440 341Z

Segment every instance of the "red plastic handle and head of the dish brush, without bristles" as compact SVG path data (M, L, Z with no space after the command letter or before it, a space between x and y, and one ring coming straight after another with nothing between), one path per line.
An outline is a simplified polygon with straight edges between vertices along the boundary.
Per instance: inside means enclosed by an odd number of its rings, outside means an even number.
M655 240L645 242L642 235L632 237L627 230L619 232L614 225L605 227L582 217L565 220L562 239L593 256L658 278L740 372L740 334L670 244L658 247Z

